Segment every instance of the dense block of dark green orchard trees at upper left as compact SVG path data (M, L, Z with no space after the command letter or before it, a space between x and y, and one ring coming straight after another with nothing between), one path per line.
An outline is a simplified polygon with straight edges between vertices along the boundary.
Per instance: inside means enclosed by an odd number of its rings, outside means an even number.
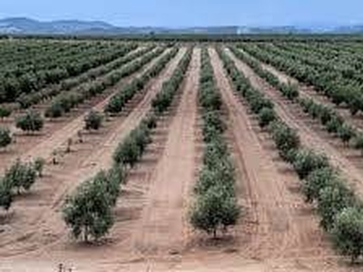
M92 41L72 44L23 41L12 43L11 47L3 52L6 64L2 74L6 76L0 77L0 102L18 102L23 109L108 73L137 55L124 56L137 44L120 46ZM151 49L149 46L140 53ZM120 56L124 57L119 59Z

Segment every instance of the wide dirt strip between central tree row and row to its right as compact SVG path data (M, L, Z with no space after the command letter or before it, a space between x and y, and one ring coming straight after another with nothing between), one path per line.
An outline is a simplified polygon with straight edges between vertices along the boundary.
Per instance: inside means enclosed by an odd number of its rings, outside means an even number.
M276 151L264 146L269 137L257 128L256 121L250 121L245 106L233 94L218 54L214 49L210 53L217 85L229 110L235 161L242 183L240 202L246 203L251 213L247 215L252 223L247 234L250 237L237 234L242 254L258 259L317 257L321 254L318 223L312 216L302 215L307 207L291 190L299 186L298 177L275 158Z

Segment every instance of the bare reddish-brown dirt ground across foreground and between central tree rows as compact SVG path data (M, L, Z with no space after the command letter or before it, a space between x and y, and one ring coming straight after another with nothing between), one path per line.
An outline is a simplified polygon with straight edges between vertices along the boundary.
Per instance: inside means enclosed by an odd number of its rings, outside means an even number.
M74 144L61 165L46 168L32 192L15 199L11 214L0 214L0 271L58 271L60 263L77 272L361 270L348 267L335 255L314 210L304 203L298 177L280 160L269 134L260 130L246 103L233 92L212 48L211 63L229 128L226 138L238 175L243 208L239 224L227 237L211 240L192 230L187 220L202 154L197 105L201 49L197 47L172 109L158 121L152 144L128 176L110 235L102 245L93 246L69 237L59 212L64 196L111 165L117 143L149 111L152 98L185 51L182 48L145 92L132 100L127 112L107 121L102 131L85 135L84 143ZM253 84L277 102L277 112L299 129L303 143L327 152L340 167L348 167L349 178L361 179L360 169L326 135L316 132L306 117L295 112L250 67L233 60ZM49 139L40 144L50 144ZM29 150L26 156L34 152Z

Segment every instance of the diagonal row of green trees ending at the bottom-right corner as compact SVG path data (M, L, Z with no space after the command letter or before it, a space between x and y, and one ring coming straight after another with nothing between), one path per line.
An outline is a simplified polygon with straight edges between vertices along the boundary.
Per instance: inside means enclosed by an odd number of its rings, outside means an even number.
M227 72L231 76L236 91L253 107L250 93L259 90L250 85L250 81L242 74L229 56L219 51ZM263 97L263 94L259 94ZM267 107L273 111L273 107ZM253 111L253 110L252 110ZM259 112L264 111L263 108ZM281 121L274 112L275 118L268 123L268 131L275 141L281 158L289 162L299 175L303 192L308 202L316 203L322 228L328 231L334 246L342 254L355 261L363 255L363 205L354 191L348 187L338 170L335 170L324 154L317 153L301 146L297 131Z

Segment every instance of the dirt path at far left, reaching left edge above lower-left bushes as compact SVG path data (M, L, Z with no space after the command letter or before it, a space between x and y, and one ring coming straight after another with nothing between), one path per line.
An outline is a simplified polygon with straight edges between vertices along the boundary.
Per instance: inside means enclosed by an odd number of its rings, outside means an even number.
M167 52L168 50L162 53L162 55ZM115 86L106 90L100 97L93 98L93 102L86 102L86 104L88 104L87 106L80 106L76 111L76 116L71 120L63 118L63 121L45 121L45 128L44 131L41 132L41 135L35 134L33 136L16 137L16 142L9 147L9 150L0 153L0 172L5 170L5 168L17 158L28 160L29 158L41 157L45 160L51 160L54 151L59 151L68 139L76 138L77 131L83 129L83 119L87 112L91 109L103 112L103 107L111 97L113 97L115 92L120 90L123 85L132 82L132 79L140 76L147 69L151 68L153 64L160 60L162 55L156 57L150 63L147 63L137 73L133 73L122 79Z

